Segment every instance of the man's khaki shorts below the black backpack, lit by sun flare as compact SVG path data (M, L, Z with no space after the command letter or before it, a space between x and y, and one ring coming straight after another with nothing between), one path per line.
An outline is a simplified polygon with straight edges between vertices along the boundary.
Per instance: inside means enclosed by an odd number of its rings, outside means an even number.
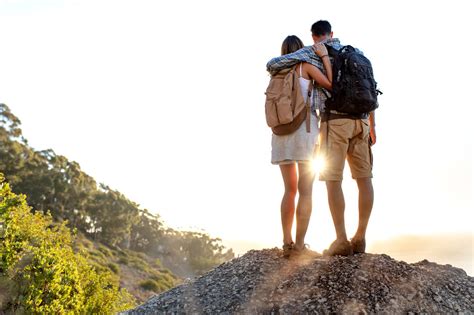
M320 128L319 154L325 160L325 167L319 173L319 180L342 180L346 157L352 178L372 178L369 120L339 118L330 120L329 128L327 124L321 122Z

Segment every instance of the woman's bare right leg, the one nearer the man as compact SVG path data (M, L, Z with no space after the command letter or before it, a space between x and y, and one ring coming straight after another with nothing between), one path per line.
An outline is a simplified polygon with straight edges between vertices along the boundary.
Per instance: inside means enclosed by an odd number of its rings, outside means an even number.
M298 206L296 207L296 249L304 248L304 237L308 230L313 207L314 169L311 163L298 163Z

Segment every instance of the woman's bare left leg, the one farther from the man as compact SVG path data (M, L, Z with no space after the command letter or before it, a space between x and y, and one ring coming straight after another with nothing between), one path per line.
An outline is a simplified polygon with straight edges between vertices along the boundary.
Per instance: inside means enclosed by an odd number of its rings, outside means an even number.
M281 225L283 227L283 244L293 242L291 237L291 228L295 216L295 197L298 189L298 174L296 172L296 163L280 165L283 183L285 184L285 193L281 200Z

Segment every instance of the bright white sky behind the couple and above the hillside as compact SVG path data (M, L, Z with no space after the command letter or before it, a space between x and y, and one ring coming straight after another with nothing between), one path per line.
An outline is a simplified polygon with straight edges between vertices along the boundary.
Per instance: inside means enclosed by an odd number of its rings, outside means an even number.
M406 235L463 235L472 274L469 7L0 0L0 102L33 148L77 161L169 226L204 230L238 253L281 246L283 181L270 163L265 64L287 35L310 45L311 24L329 20L335 37L372 61L384 92L369 248ZM346 171L351 235L357 190ZM316 181L306 242L322 250L334 237Z

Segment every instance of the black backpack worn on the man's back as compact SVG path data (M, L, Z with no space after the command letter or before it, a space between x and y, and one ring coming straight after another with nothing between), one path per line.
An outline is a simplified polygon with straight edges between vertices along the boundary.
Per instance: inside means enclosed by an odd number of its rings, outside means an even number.
M372 65L364 55L352 46L337 50L326 45L333 57L332 92L326 100L326 110L359 116L375 110L379 105Z

